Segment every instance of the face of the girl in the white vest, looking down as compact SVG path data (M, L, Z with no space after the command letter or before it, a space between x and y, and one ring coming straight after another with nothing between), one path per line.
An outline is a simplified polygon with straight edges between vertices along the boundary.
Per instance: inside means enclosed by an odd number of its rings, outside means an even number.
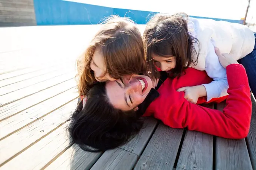
M160 68L162 71L169 71L176 66L176 56L166 58L156 54L152 54L152 58L155 66Z

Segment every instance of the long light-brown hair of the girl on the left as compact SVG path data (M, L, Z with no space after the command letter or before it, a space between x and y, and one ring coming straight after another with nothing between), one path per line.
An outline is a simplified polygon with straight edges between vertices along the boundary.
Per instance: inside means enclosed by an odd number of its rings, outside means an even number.
M77 61L79 95L86 95L96 79L90 68L91 59L99 47L104 56L106 73L119 79L125 75L147 74L143 40L135 23L113 15L103 23L90 45Z

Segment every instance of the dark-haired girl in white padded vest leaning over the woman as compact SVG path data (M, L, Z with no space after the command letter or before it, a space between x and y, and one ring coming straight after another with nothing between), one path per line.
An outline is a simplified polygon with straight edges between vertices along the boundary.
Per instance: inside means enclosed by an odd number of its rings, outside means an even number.
M242 24L190 18L184 13L154 15L143 35L149 68L156 78L160 70L176 77L193 67L205 70L214 80L178 89L185 91L184 97L193 103L197 103L198 97L207 96L210 101L227 95L226 70L219 63L214 47L244 65L251 90L256 95L255 37L256 33Z

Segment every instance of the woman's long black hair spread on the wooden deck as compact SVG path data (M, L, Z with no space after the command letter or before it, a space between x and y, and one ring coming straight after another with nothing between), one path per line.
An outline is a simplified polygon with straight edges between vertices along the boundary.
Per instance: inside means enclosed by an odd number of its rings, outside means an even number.
M135 111L122 111L111 105L105 82L93 85L87 97L84 108L82 102L78 103L69 125L73 141L82 149L89 152L114 149L129 141L142 128L143 121Z

